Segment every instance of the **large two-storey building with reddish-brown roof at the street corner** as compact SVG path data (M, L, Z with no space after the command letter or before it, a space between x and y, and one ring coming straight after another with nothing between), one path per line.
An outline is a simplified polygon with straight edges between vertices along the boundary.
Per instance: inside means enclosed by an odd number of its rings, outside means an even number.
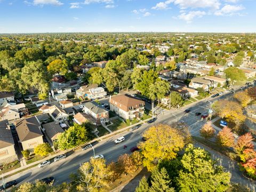
M130 95L109 98L110 110L124 119L140 118L144 114L145 102Z

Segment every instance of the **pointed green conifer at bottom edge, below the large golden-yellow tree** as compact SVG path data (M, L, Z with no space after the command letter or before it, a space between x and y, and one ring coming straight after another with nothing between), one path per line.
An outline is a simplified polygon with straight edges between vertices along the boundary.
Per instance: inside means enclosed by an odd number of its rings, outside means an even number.
M151 175L151 187L149 191L169 191L169 192L174 192L174 188L170 187L171 186L171 180L169 178L169 175L166 171L166 169L163 167L160 171L155 169L152 172Z

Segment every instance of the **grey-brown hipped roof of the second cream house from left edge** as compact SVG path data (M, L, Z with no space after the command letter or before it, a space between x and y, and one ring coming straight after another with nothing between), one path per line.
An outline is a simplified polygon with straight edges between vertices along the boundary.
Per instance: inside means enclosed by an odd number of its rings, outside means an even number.
M21 142L43 136L36 117L19 119L15 121L15 125Z

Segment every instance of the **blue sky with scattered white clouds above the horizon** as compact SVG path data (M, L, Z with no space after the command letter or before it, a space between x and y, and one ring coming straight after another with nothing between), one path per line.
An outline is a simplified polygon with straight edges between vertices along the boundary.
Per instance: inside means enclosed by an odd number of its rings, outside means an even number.
M255 7L255 0L0 0L0 33L251 33Z

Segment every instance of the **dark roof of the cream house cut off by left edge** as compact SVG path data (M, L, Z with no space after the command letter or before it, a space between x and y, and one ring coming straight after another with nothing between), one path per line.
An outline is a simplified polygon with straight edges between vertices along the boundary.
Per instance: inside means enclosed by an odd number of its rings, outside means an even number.
M8 120L0 122L0 148L8 147L14 145L12 132L8 127Z

